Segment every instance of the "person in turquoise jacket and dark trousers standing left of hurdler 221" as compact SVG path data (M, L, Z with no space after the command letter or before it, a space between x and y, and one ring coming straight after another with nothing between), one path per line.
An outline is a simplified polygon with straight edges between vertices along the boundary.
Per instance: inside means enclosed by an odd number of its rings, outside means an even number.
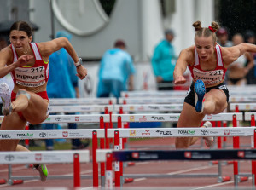
M166 30L165 39L161 40L154 49L151 63L159 90L173 89L173 71L176 63L175 51L172 45L174 33Z

